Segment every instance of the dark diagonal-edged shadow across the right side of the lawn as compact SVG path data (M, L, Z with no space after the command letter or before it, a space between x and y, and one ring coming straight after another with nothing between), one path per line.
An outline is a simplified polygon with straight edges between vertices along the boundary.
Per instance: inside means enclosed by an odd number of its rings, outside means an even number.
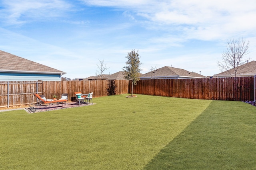
M242 102L212 101L144 170L254 169L255 111Z

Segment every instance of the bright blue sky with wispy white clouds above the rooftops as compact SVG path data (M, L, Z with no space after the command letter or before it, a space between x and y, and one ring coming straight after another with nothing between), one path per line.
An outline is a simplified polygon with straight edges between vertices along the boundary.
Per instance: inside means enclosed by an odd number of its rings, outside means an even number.
M173 66L220 73L228 39L250 41L256 60L255 0L0 0L0 50L67 72L122 71L139 51L142 73Z

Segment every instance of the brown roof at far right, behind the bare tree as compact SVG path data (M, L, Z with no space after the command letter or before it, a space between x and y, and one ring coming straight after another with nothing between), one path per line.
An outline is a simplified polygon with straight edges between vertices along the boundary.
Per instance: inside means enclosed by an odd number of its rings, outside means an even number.
M230 74L231 73L231 74ZM237 75L238 77L244 76L255 76L256 75L256 61L250 61L246 64L242 64L238 66ZM220 78L220 77L234 77L234 68L221 72L219 74L214 74L213 78Z

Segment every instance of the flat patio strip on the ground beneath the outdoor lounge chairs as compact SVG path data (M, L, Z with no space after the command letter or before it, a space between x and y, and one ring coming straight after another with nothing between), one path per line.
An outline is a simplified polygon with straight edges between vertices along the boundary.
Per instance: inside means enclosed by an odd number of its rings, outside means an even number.
M29 107L24 107L23 109L28 113L38 113L38 112L42 112L42 111L51 111L51 110L66 109L66 108L72 108L72 107L91 106L94 104L89 103L89 104L78 105L76 102L68 102L66 105L65 104L50 104L48 106L46 106L46 105L41 105L41 106L30 105Z

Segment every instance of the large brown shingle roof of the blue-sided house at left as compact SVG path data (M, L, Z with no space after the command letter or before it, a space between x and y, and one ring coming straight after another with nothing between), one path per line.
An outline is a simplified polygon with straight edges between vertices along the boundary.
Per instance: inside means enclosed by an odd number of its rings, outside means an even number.
M0 50L0 72L66 74L66 72Z

